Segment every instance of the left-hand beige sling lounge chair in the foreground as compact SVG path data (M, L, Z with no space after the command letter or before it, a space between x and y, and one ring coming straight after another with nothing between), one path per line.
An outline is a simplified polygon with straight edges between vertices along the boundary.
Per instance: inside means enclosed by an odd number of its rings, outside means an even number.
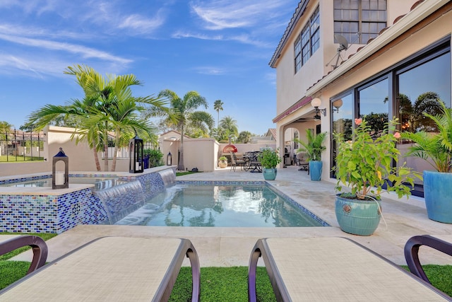
M184 257L191 301L200 294L198 255L190 240L103 237L0 291L0 301L167 301Z

